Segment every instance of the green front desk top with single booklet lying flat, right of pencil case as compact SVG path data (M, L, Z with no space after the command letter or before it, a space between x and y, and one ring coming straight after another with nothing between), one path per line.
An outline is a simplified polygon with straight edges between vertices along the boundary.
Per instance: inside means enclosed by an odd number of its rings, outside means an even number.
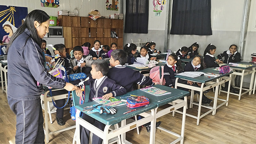
M134 91L128 92L124 96L129 96L130 94L135 95L135 96L146 96L150 102L157 104L158 107L168 104L169 102L175 101L182 97L189 96L189 92L184 91L184 90L174 89L174 88L162 86L162 85L154 85L154 87L158 87L159 89L166 90L166 91L172 92L172 93L166 94L163 96L154 96L153 94L143 92L142 90L134 90ZM120 96L120 97L123 97L123 96ZM126 98L120 98L120 97L117 97L117 98L118 99L126 99Z

